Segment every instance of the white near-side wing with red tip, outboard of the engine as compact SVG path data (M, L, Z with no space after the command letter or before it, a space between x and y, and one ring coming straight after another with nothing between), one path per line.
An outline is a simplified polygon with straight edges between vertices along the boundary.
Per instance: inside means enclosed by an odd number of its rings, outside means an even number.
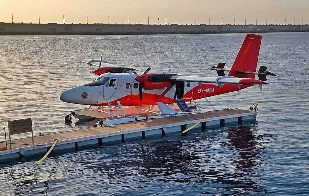
M204 76L172 76L172 80L176 81L192 81L192 82L205 82L214 84L239 84L239 85L252 85L252 84L268 84L267 82L260 81L253 78L239 78L233 76L219 76L219 77L204 77Z

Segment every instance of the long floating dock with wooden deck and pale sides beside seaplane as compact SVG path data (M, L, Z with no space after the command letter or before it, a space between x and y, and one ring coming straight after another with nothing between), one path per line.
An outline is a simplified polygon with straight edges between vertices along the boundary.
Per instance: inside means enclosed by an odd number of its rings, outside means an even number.
M0 151L0 162L8 162L12 159L30 157L36 154L46 153L54 140L58 140L54 152L65 149L73 149L80 146L105 146L112 143L124 143L128 139L145 138L150 135L165 136L168 133L179 132L199 124L195 128L206 130L207 127L223 126L230 123L242 124L244 121L254 121L256 112L243 109L217 110L188 114L184 116L166 117L159 119L147 119L114 126L90 127L73 131L56 132L52 134L11 140L7 144L8 149ZM0 149L6 148L5 141L0 143Z

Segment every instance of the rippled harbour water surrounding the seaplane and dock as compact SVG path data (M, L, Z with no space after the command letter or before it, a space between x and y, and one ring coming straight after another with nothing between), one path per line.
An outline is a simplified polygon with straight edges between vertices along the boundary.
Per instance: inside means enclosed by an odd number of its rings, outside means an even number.
M1 195L307 195L309 194L309 33L263 33L259 66L280 77L209 98L217 109L259 104L257 121L72 150L0 165ZM81 105L59 94L95 79L79 63L99 58L153 71L215 76L230 67L245 34L0 36L0 127L31 117L34 135L87 127L64 116ZM209 107L203 107L210 110ZM27 135L22 135L27 136ZM14 136L13 139L20 137ZM4 140L4 133L0 133ZM130 145L128 145L130 144ZM134 145L131 145L134 144Z

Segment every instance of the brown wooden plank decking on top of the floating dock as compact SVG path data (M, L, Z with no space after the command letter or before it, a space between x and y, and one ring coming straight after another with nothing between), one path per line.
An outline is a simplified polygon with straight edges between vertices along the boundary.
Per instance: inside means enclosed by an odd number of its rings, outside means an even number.
M56 132L56 133L46 134L42 136L34 136L33 138L34 138L34 144L46 144L46 143L53 142L53 140L55 139L57 139L58 141L63 141L63 140L69 140L69 139L75 139L75 138L83 138L87 136L95 136L95 135L100 135L100 134L119 133L120 130L129 131L129 130L134 130L134 129L159 126L159 125L180 123L180 122L184 122L188 120L199 120L203 118L207 119L207 118L214 118L214 117L220 117L220 116L223 117L223 116L228 116L228 115L246 114L249 112L250 111L248 110L242 110L242 109L232 109L230 111L228 110L209 111L209 112L202 112L202 113L196 113L196 114L188 114L185 116L167 117L167 118L160 118L160 119L147 119L147 120L141 120L137 122L119 124L119 125L110 126L110 127L89 127L89 128L72 130L72 131L62 131L62 132ZM7 144L8 149L10 149L9 141L7 142L8 142ZM32 137L15 139L15 140L11 140L11 142L15 143L15 144L12 144L12 149L23 148L23 147L29 146L25 144L32 145ZM6 146L5 141L4 143L0 143L0 148L5 147L5 146Z

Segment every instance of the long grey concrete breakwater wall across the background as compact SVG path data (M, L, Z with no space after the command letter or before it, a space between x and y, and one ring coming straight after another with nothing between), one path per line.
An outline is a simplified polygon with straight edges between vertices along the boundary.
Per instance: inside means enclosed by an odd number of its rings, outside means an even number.
M0 35L200 34L309 31L309 25L0 23Z

